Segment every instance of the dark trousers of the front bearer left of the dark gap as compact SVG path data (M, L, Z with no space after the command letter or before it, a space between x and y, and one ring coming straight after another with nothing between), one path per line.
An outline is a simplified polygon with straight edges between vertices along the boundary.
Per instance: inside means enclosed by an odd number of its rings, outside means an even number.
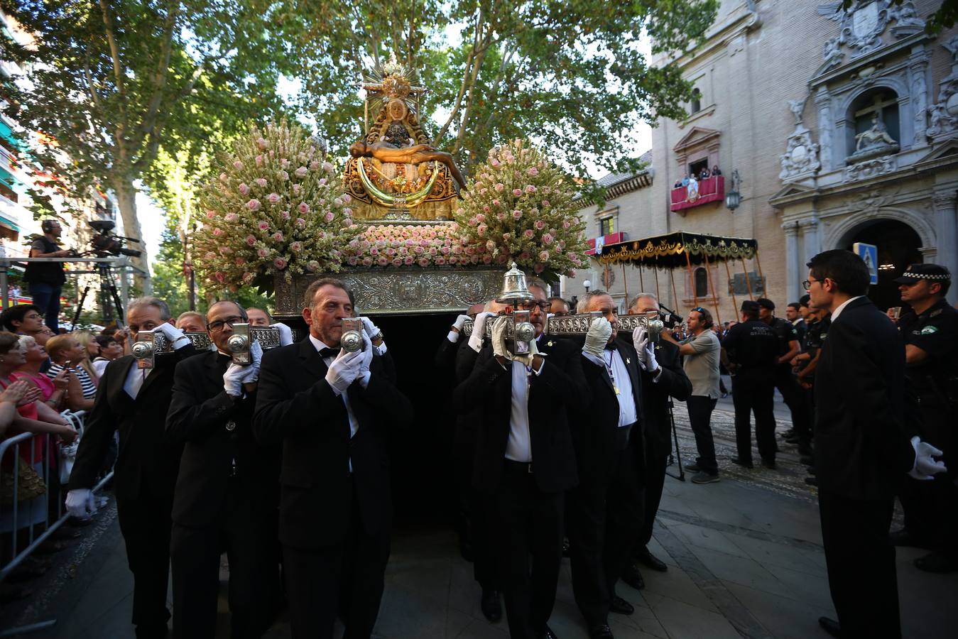
M331 639L338 616L344 639L368 639L376 626L389 561L389 530L368 534L357 508L346 537L320 549L283 545L283 573L293 639Z

